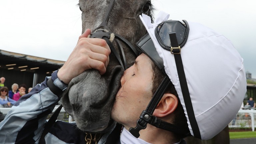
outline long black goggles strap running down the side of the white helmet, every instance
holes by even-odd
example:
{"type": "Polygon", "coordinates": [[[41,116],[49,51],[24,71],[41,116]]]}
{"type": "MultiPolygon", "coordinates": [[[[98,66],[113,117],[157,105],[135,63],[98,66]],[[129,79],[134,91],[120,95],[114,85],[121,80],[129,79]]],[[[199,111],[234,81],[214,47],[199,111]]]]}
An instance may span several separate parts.
{"type": "MultiPolygon", "coordinates": [[[[170,36],[172,47],[174,47],[174,48],[179,47],[176,33],[170,33],[169,36],[170,36]]],[[[201,134],[200,134],[200,131],[198,128],[198,124],[196,122],[191,98],[189,95],[189,90],[188,90],[187,80],[186,80],[186,76],[185,76],[185,72],[184,72],[184,68],[183,68],[183,64],[182,64],[181,54],[180,54],[180,52],[172,53],[172,54],[174,54],[174,59],[175,59],[177,72],[178,72],[178,76],[179,76],[181,91],[182,91],[183,99],[184,99],[186,110],[188,113],[188,119],[189,119],[191,128],[193,130],[194,137],[201,139],[201,134]]]]}

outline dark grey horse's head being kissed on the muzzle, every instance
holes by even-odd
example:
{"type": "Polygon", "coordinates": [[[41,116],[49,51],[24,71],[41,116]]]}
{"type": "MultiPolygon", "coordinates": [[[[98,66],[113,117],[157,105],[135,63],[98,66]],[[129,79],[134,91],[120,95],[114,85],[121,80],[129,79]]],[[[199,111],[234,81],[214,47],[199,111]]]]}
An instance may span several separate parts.
{"type": "MultiPolygon", "coordinates": [[[[150,15],[153,10],[151,0],[79,0],[79,7],[82,11],[82,33],[87,28],[96,29],[107,18],[107,29],[121,35],[133,46],[146,34],[139,15],[150,15]]],[[[117,44],[113,42],[113,45],[119,54],[117,44]]],[[[125,65],[130,67],[136,54],[125,44],[123,53],[125,58],[122,62],[126,59],[125,65]]],[[[110,115],[124,72],[119,63],[111,51],[110,62],[104,75],[94,69],[86,70],[69,83],[62,95],[62,104],[79,129],[86,132],[105,132],[113,128],[115,122],[111,120],[110,115]]]]}

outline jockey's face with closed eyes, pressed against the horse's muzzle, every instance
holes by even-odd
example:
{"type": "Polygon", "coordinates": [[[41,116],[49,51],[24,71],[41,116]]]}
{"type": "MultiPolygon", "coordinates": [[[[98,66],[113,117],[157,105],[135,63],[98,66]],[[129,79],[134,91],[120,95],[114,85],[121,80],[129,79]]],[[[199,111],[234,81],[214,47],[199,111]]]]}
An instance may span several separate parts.
{"type": "Polygon", "coordinates": [[[126,129],[135,127],[141,112],[152,98],[152,81],[151,60],[141,54],[121,78],[121,88],[111,113],[112,119],[123,124],[126,129]]]}

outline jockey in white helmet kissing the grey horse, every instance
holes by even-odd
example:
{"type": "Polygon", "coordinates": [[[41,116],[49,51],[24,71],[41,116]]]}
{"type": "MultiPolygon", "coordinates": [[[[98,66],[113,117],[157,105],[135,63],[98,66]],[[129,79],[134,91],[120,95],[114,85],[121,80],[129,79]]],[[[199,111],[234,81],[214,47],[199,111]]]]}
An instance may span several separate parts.
{"type": "MultiPolygon", "coordinates": [[[[148,33],[137,43],[141,55],[121,78],[111,118],[117,125],[98,144],[186,144],[186,136],[210,139],[235,117],[246,92],[243,59],[223,35],[198,23],[155,23],[140,16],[148,33]],[[121,135],[120,135],[121,132],[121,135]]],[[[62,68],[22,96],[0,123],[0,141],[39,143],[46,118],[72,78],[87,69],[104,74],[110,49],[102,39],[79,41],[62,68]]],[[[75,123],[56,121],[45,143],[86,143],[75,123]]]]}

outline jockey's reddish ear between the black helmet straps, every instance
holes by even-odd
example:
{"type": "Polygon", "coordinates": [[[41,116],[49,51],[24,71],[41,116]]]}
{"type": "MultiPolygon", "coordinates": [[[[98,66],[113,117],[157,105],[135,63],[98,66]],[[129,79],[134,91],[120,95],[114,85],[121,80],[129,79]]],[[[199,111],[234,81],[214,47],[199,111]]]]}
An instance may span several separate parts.
{"type": "Polygon", "coordinates": [[[156,117],[165,117],[174,112],[177,106],[177,97],[173,94],[166,93],[158,103],[153,115],[156,117]]]}

